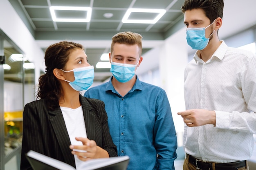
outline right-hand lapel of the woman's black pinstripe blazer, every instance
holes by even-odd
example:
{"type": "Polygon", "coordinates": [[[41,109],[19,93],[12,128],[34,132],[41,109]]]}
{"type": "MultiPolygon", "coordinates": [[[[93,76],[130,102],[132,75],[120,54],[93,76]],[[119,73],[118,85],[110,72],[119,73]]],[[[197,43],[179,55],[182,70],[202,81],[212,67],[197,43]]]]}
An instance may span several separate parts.
{"type": "Polygon", "coordinates": [[[85,128],[86,128],[86,133],[87,133],[87,138],[88,139],[94,139],[95,138],[95,115],[90,112],[92,109],[91,105],[89,102],[80,95],[80,102],[83,108],[83,117],[85,120],[85,128]]]}

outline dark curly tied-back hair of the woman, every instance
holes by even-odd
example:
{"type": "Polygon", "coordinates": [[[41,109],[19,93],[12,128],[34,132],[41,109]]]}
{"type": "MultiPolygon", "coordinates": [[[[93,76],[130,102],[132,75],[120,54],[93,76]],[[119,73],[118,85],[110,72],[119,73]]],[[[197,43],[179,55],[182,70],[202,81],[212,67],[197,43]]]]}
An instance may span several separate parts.
{"type": "Polygon", "coordinates": [[[54,76],[54,68],[64,69],[69,59],[69,54],[74,49],[83,49],[81,44],[61,41],[50,45],[45,51],[46,73],[39,77],[38,99],[45,99],[50,110],[58,107],[61,96],[61,83],[54,76]]]}

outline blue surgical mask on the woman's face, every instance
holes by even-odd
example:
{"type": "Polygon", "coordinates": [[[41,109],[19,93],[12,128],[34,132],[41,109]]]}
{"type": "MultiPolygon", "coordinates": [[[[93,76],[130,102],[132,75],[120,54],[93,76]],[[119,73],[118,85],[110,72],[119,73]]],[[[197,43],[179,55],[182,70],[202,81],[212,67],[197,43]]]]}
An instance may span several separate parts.
{"type": "MultiPolygon", "coordinates": [[[[62,69],[61,69],[62,70],[62,69]]],[[[64,71],[63,72],[74,72],[75,80],[73,82],[69,82],[69,85],[75,89],[76,91],[82,91],[87,90],[93,83],[94,78],[94,67],[87,66],[87,67],[81,67],[81,68],[74,68],[70,71],[64,71]]]]}

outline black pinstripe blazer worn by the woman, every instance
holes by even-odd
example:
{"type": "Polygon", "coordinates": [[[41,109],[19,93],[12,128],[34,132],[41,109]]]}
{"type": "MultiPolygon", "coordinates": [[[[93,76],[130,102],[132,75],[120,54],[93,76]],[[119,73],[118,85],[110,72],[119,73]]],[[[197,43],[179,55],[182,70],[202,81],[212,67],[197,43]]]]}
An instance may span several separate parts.
{"type": "MultiPolygon", "coordinates": [[[[105,149],[110,157],[117,156],[117,147],[108,129],[108,117],[104,102],[97,99],[79,97],[85,120],[88,139],[94,140],[105,149]]],[[[45,100],[36,100],[25,105],[23,111],[23,137],[20,169],[31,169],[25,153],[34,150],[75,167],[71,154],[69,135],[60,107],[50,111],[45,100]]]]}

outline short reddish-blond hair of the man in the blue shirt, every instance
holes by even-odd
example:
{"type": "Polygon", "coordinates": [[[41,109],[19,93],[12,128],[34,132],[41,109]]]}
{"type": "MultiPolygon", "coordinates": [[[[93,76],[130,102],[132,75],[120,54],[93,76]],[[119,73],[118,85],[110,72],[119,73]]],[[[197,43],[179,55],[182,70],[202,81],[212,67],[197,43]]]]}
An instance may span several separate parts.
{"type": "Polygon", "coordinates": [[[130,31],[128,32],[121,32],[117,33],[112,37],[112,43],[111,43],[111,53],[113,52],[113,46],[116,43],[119,44],[127,44],[127,45],[135,45],[137,44],[139,46],[139,57],[141,56],[142,52],[142,36],[138,33],[132,33],[130,31]]]}

